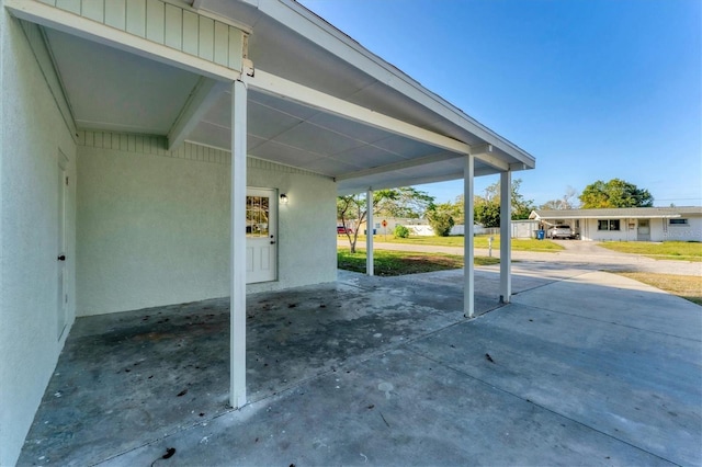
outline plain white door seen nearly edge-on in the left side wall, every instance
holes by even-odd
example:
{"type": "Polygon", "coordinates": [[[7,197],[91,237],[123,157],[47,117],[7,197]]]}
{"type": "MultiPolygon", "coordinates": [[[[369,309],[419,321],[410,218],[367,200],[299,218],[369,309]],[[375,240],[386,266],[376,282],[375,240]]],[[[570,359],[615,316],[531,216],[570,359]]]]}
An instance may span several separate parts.
{"type": "Polygon", "coordinates": [[[56,337],[60,339],[66,329],[66,312],[68,306],[68,295],[66,294],[66,191],[68,187],[68,178],[66,175],[67,158],[61,152],[58,153],[58,205],[57,221],[58,231],[56,235],[57,243],[57,293],[56,293],[56,337]]]}

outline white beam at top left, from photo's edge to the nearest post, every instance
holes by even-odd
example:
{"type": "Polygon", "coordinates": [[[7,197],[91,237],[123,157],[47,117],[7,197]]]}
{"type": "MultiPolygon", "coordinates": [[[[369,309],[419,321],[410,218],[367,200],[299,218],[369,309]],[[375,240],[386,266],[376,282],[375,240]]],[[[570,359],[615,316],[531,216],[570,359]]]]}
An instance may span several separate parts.
{"type": "Polygon", "coordinates": [[[38,1],[4,0],[4,5],[13,16],[21,20],[128,52],[217,81],[227,81],[230,83],[241,78],[241,72],[237,70],[105,26],[104,24],[38,1]]]}

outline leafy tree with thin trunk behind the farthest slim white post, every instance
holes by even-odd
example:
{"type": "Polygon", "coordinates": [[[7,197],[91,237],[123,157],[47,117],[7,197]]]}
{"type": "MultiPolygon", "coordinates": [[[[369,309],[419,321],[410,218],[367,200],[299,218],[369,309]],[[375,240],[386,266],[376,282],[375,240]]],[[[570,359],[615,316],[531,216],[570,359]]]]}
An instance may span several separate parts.
{"type": "MultiPolygon", "coordinates": [[[[433,196],[414,187],[378,190],[373,192],[373,214],[417,218],[433,207],[433,196]]],[[[337,218],[343,226],[352,253],[355,253],[359,226],[365,221],[366,215],[367,203],[364,194],[337,197],[337,218]],[[355,225],[353,226],[353,224],[355,225]]],[[[369,226],[366,230],[372,232],[372,226],[369,226]]]]}

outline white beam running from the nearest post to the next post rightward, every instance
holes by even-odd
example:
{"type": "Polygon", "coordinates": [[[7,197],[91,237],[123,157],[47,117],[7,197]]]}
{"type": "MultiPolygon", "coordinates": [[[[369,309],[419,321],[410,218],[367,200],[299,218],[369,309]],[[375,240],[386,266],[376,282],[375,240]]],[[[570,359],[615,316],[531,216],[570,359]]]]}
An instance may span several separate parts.
{"type": "Polygon", "coordinates": [[[246,83],[259,91],[296,101],[351,121],[373,126],[440,149],[467,155],[471,146],[448,136],[430,132],[400,119],[373,112],[333,95],[307,88],[275,75],[257,69],[252,77],[244,77],[246,83]]]}

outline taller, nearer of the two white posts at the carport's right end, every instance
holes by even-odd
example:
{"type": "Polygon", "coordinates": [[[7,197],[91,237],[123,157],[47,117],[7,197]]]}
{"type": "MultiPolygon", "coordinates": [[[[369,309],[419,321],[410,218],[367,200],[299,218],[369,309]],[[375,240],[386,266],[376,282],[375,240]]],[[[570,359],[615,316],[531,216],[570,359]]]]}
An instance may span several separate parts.
{"type": "Polygon", "coordinates": [[[463,238],[463,316],[474,318],[475,316],[475,269],[473,251],[473,186],[475,176],[475,163],[473,155],[465,157],[465,167],[463,169],[463,212],[464,212],[464,238],[463,238]]]}

